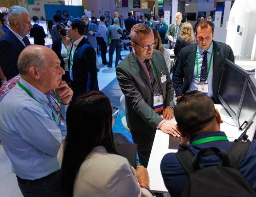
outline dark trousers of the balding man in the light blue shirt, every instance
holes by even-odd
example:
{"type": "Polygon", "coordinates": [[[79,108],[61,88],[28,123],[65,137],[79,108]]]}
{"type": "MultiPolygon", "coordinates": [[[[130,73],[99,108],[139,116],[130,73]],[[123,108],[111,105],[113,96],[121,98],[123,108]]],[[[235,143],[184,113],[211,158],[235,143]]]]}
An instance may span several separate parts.
{"type": "Polygon", "coordinates": [[[17,176],[17,181],[24,197],[63,197],[60,170],[34,181],[17,176]]]}

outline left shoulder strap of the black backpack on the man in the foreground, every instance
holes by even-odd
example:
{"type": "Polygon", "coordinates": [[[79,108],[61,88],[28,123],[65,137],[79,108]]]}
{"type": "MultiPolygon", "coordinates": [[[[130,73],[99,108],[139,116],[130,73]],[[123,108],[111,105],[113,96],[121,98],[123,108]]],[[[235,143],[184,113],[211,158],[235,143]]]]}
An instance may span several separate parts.
{"type": "Polygon", "coordinates": [[[188,174],[193,172],[193,154],[190,152],[190,150],[183,150],[175,153],[176,158],[181,163],[182,167],[188,172],[188,174]]]}

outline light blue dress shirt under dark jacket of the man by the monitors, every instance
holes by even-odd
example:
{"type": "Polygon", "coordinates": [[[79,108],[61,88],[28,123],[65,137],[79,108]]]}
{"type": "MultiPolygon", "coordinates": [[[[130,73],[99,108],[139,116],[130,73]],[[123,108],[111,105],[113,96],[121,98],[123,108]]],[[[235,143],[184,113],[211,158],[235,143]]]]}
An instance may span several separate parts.
{"type": "MultiPolygon", "coordinates": [[[[207,61],[208,61],[208,68],[209,68],[209,64],[210,64],[210,56],[213,53],[212,50],[212,46],[213,43],[211,42],[209,49],[207,49],[206,51],[208,51],[207,53],[207,61]]],[[[204,58],[204,51],[203,49],[201,49],[199,46],[197,48],[197,55],[198,55],[198,76],[199,76],[199,81],[200,81],[200,76],[201,76],[201,69],[202,69],[202,62],[203,62],[203,58],[204,58]]],[[[209,75],[207,78],[207,82],[208,82],[208,95],[210,98],[213,97],[213,91],[212,91],[212,75],[213,75],[213,71],[212,71],[212,67],[213,67],[213,55],[212,55],[212,60],[211,60],[211,64],[210,64],[210,71],[209,71],[209,75]]],[[[193,91],[193,90],[198,90],[197,88],[197,83],[199,82],[196,79],[196,58],[195,58],[195,67],[194,67],[194,73],[193,73],[193,79],[191,82],[191,85],[189,87],[189,89],[187,90],[187,92],[193,91]]]]}

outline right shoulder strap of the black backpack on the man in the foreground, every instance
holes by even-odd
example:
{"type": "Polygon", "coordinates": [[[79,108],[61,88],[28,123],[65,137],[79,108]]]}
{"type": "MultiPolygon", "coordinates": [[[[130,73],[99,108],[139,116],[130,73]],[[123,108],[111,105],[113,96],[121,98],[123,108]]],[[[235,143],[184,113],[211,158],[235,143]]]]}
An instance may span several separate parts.
{"type": "Polygon", "coordinates": [[[245,158],[245,154],[250,148],[250,142],[233,142],[228,150],[230,165],[238,169],[239,165],[245,158]]]}

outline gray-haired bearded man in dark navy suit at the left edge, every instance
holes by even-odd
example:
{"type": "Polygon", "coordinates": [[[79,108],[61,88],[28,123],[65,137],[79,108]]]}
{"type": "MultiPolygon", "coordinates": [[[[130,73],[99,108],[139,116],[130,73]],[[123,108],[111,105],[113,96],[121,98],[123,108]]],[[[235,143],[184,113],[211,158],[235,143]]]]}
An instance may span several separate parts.
{"type": "Polygon", "coordinates": [[[0,38],[0,65],[7,79],[19,74],[17,60],[22,50],[30,44],[28,33],[33,28],[28,10],[13,5],[8,12],[10,28],[0,38]]]}

